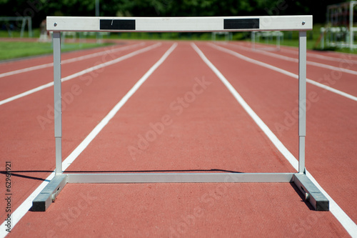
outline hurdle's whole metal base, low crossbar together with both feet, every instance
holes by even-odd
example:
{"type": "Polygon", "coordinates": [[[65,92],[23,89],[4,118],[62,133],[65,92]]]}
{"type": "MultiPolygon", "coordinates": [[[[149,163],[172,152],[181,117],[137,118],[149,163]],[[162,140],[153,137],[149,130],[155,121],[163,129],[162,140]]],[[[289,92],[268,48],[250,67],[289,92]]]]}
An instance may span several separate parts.
{"type": "Polygon", "coordinates": [[[294,173],[121,173],[121,174],[59,174],[34,199],[32,211],[45,212],[69,184],[144,184],[144,183],[276,183],[290,182],[308,195],[318,211],[328,211],[328,200],[305,174],[294,173]],[[326,205],[327,202],[327,205],[326,205]]]}

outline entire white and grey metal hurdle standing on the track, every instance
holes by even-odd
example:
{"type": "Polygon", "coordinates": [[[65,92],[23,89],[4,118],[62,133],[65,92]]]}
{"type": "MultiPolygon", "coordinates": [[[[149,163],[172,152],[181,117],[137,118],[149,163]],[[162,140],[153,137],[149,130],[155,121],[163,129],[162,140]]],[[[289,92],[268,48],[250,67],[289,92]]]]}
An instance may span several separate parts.
{"type": "Polygon", "coordinates": [[[318,211],[328,211],[328,199],[306,175],[306,31],[312,16],[219,16],[219,17],[66,17],[47,16],[54,46],[54,179],[34,199],[32,211],[46,211],[67,183],[294,183],[318,211]],[[62,171],[61,31],[113,32],[222,32],[299,31],[298,64],[298,172],[296,173],[64,173],[62,171]]]}

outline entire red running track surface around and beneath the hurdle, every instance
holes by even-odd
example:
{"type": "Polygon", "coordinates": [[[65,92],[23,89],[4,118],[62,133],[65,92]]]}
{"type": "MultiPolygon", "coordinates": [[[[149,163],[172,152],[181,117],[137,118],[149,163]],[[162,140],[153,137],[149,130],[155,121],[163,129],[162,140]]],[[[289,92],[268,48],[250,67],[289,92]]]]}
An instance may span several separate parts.
{"type": "MultiPolygon", "coordinates": [[[[298,49],[259,47],[120,41],[62,54],[65,172],[296,172],[198,54],[297,159],[298,49]]],[[[0,64],[3,188],[11,164],[11,232],[1,224],[1,237],[357,237],[357,56],[308,51],[307,60],[306,169],[331,212],[289,183],[67,184],[46,212],[31,212],[55,169],[53,59],[0,64]]]]}

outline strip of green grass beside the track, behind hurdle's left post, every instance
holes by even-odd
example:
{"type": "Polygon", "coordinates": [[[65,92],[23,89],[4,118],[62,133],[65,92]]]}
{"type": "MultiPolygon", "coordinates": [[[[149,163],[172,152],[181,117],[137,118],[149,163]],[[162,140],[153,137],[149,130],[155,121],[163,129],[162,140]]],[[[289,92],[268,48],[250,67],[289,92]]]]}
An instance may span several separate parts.
{"type": "MultiPolygon", "coordinates": [[[[89,49],[109,44],[95,43],[66,43],[62,46],[62,51],[74,51],[78,49],[89,49]]],[[[16,59],[27,56],[36,56],[41,54],[51,54],[52,44],[42,42],[21,42],[21,41],[0,41],[0,60],[16,59]]]]}

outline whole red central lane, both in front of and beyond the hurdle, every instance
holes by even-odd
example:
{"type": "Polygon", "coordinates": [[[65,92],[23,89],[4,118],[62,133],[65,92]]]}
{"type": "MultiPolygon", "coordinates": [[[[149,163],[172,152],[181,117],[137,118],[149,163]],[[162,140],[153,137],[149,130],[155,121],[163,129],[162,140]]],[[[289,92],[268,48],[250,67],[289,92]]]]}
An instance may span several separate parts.
{"type": "MultiPolygon", "coordinates": [[[[211,169],[293,172],[183,42],[68,170],[211,169]],[[141,138],[147,143],[139,144],[141,138]]],[[[314,212],[296,190],[288,183],[67,184],[47,212],[28,212],[9,237],[347,235],[330,212],[314,212]]]]}

